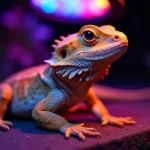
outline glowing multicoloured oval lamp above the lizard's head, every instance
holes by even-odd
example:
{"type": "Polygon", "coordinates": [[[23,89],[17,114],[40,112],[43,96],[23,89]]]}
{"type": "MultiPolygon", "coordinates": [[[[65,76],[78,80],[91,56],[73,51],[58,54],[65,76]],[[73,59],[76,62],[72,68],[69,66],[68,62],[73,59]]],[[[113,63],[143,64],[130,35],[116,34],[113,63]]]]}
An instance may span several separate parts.
{"type": "Polygon", "coordinates": [[[73,23],[104,19],[111,10],[109,0],[31,0],[31,6],[45,17],[73,23]]]}

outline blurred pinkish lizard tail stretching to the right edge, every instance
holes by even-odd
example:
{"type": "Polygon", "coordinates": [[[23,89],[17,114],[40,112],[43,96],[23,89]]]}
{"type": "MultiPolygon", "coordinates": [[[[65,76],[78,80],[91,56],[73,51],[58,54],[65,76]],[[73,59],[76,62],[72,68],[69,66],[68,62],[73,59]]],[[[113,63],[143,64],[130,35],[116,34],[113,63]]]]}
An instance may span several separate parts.
{"type": "Polygon", "coordinates": [[[94,85],[93,90],[101,99],[116,101],[143,101],[150,100],[150,88],[119,89],[102,85],[94,85]]]}

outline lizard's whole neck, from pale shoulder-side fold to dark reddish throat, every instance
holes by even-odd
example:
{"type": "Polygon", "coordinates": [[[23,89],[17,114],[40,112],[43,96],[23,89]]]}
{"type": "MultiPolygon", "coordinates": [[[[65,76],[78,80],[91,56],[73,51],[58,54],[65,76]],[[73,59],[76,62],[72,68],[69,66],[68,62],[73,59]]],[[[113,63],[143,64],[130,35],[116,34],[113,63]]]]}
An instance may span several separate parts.
{"type": "Polygon", "coordinates": [[[104,79],[104,75],[108,74],[108,67],[100,72],[82,72],[69,79],[67,76],[62,77],[57,74],[57,71],[48,65],[43,72],[42,79],[51,89],[59,87],[67,93],[67,96],[82,98],[87,95],[93,83],[104,79]]]}

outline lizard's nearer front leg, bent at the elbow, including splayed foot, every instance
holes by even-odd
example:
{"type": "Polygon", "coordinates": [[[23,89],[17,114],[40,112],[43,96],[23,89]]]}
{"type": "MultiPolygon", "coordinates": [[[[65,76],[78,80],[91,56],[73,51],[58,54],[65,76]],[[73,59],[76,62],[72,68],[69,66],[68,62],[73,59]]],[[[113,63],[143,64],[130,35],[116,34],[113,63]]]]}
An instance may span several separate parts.
{"type": "Polygon", "coordinates": [[[53,90],[45,99],[39,102],[32,112],[32,117],[45,129],[59,131],[65,134],[66,138],[76,135],[85,140],[85,135],[100,136],[100,133],[93,128],[83,127],[84,124],[71,124],[63,117],[54,113],[65,105],[64,93],[60,90],[53,90]]]}

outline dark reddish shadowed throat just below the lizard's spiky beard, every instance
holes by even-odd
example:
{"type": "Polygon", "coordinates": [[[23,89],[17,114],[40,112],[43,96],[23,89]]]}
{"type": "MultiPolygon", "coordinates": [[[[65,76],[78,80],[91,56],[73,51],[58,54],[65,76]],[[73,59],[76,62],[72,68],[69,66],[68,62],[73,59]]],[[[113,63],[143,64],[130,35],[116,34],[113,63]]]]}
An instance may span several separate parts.
{"type": "Polygon", "coordinates": [[[68,77],[57,74],[55,69],[52,71],[55,82],[65,89],[68,94],[74,95],[74,97],[85,96],[93,83],[100,79],[104,79],[104,75],[106,74],[108,74],[108,68],[100,72],[83,72],[83,74],[76,75],[74,78],[69,79],[68,77]]]}

